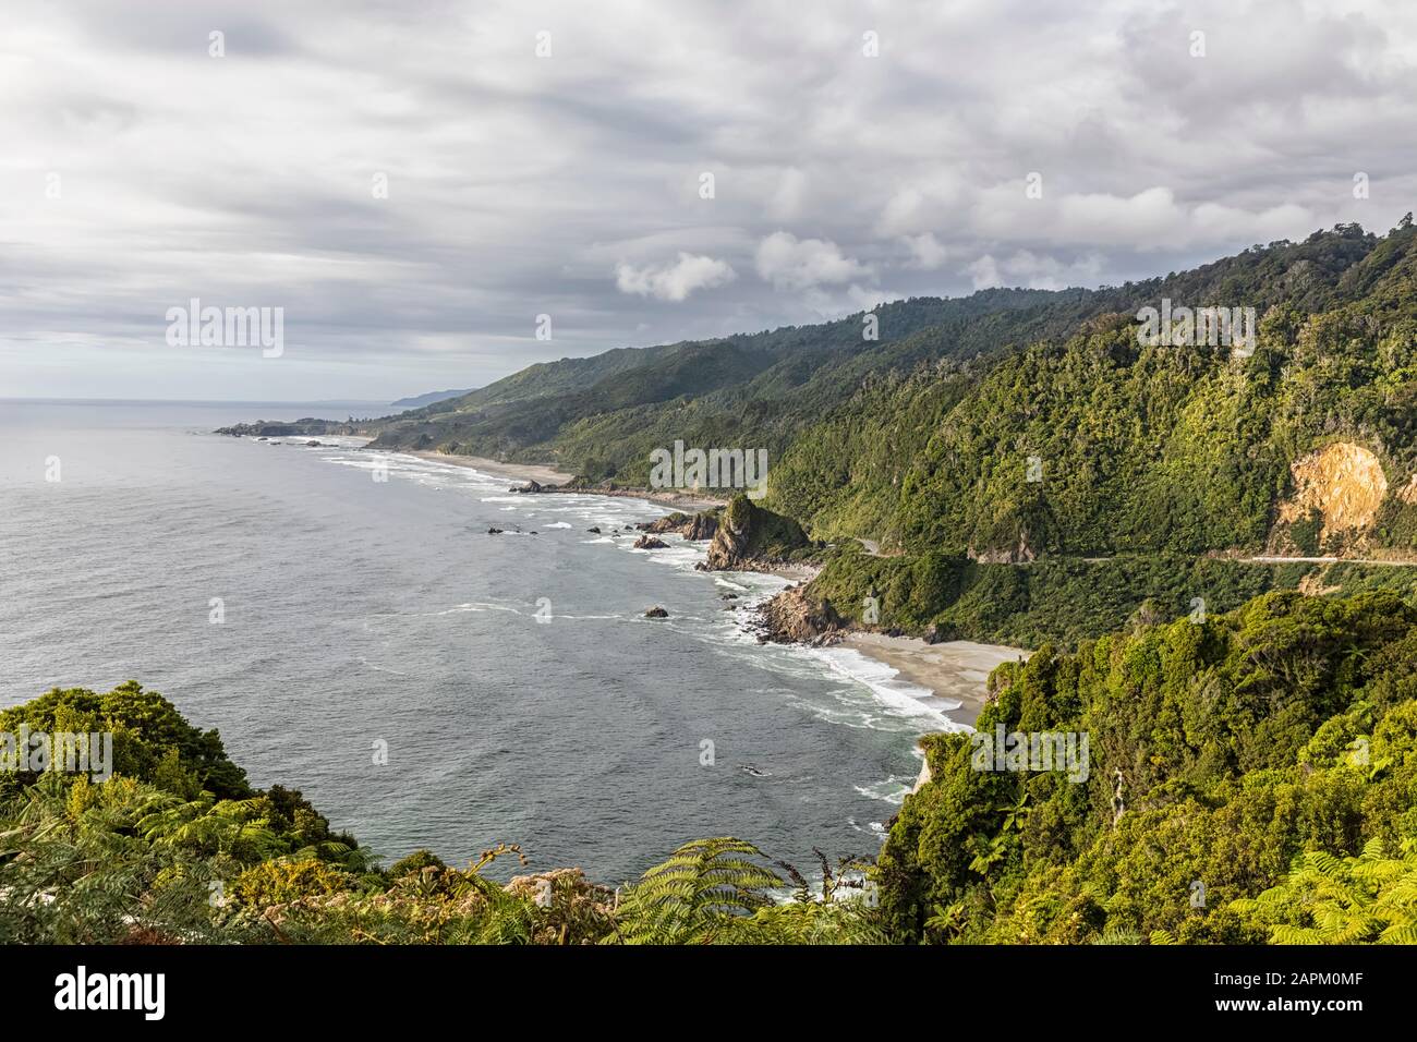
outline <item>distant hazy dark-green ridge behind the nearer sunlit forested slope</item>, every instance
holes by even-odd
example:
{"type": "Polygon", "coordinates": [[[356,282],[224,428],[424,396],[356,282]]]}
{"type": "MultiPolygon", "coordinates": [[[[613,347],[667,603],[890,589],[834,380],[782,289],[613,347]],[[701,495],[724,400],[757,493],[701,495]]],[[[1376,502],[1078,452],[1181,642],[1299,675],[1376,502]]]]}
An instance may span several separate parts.
{"type": "Polygon", "coordinates": [[[939,335],[917,339],[904,354],[890,350],[897,342],[920,330],[972,329],[975,318],[1027,312],[1056,296],[989,291],[959,301],[898,301],[877,309],[879,339],[866,339],[863,316],[854,315],[818,326],[544,363],[366,430],[377,434],[377,448],[555,461],[592,479],[643,483],[656,445],[682,438],[704,447],[779,448],[808,417],[843,401],[859,373],[931,353],[999,346],[983,329],[959,343],[939,335]],[[866,360],[852,366],[857,357],[866,360]]]}

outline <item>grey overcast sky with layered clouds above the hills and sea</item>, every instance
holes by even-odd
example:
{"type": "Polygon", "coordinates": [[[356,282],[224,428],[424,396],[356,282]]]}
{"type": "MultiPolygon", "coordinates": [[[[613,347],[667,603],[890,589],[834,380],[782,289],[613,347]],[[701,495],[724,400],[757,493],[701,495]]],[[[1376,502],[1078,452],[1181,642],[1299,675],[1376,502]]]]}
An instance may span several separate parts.
{"type": "Polygon", "coordinates": [[[1414,69],[1400,0],[6,0],[0,397],[387,401],[1386,231],[1414,69]],[[191,298],[283,354],[170,346],[191,298]]]}

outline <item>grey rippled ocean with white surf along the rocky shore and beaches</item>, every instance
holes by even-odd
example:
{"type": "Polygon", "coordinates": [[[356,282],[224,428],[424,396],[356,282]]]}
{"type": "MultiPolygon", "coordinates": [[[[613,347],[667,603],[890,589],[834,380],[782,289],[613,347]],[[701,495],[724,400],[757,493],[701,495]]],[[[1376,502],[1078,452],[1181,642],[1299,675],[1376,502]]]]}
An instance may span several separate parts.
{"type": "Polygon", "coordinates": [[[0,705],[136,679],[387,861],[516,842],[609,883],[713,835],[805,872],[813,846],[874,856],[917,737],[955,727],[888,668],[724,610],[784,580],[612,533],[665,508],[211,434],[299,415],[346,411],[0,401],[0,705]]]}

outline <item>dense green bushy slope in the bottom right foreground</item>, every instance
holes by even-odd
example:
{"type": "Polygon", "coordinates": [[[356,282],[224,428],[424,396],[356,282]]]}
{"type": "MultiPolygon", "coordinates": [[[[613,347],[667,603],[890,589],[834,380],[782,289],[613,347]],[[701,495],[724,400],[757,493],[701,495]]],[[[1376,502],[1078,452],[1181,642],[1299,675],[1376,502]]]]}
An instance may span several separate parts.
{"type": "Polygon", "coordinates": [[[981,734],[1088,737],[1083,780],[930,781],[880,856],[896,934],[990,943],[1417,941],[1417,610],[1271,594],[995,671],[981,734]]]}

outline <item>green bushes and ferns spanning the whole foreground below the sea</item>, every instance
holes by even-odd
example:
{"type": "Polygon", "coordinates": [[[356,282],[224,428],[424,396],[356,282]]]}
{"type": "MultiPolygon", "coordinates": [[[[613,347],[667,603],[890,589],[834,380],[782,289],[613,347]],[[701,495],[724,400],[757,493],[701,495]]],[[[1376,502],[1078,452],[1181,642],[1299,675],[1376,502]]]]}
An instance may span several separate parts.
{"type": "Polygon", "coordinates": [[[968,736],[931,736],[873,865],[822,858],[809,883],[701,839],[619,889],[493,879],[516,846],[381,868],[160,695],[50,692],[0,729],[112,730],[115,775],[0,775],[0,941],[1417,941],[1417,608],[1397,595],[1270,593],[1044,646],[990,692],[982,733],[1085,733],[1087,778],[976,770],[968,736]]]}

